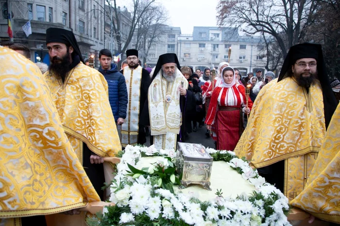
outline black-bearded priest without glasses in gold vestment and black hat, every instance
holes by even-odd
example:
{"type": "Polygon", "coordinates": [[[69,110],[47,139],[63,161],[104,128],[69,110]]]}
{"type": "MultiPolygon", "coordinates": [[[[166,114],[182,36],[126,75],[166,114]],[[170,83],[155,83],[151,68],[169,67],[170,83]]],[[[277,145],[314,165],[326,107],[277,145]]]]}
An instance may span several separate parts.
{"type": "Polygon", "coordinates": [[[49,28],[46,43],[51,65],[45,79],[68,139],[103,199],[103,159],[121,151],[108,100],[107,82],[83,62],[72,31],[49,28]]]}

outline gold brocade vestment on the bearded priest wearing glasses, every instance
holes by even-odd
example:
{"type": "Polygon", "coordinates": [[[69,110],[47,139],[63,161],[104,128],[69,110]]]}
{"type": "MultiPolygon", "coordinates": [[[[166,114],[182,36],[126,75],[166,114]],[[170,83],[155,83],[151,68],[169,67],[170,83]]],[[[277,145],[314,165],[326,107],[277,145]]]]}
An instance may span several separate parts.
{"type": "Polygon", "coordinates": [[[308,93],[291,77],[273,82],[256,97],[235,153],[256,168],[285,160],[284,194],[292,200],[304,189],[325,135],[323,94],[318,80],[308,93]]]}

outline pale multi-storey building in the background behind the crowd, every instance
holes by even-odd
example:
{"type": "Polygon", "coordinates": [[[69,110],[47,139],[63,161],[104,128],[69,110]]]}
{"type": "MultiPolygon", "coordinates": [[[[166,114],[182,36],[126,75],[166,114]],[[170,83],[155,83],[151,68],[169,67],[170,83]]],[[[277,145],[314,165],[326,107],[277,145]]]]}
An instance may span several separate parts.
{"type": "Polygon", "coordinates": [[[181,66],[191,66],[194,70],[217,68],[220,62],[225,61],[238,68],[242,76],[249,72],[255,74],[256,70],[264,74],[264,47],[263,39],[240,36],[235,28],[194,27],[192,34],[181,34],[180,28],[168,27],[163,42],[150,49],[147,65],[155,66],[159,55],[173,52],[177,54],[181,66]]]}

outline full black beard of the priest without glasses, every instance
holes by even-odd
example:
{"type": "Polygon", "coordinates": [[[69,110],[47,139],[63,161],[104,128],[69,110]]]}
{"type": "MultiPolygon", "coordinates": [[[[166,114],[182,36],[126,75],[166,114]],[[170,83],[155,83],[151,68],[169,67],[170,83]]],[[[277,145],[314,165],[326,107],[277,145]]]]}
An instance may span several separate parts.
{"type": "Polygon", "coordinates": [[[71,57],[69,52],[65,54],[62,58],[58,56],[50,57],[51,64],[49,66],[50,73],[55,75],[57,78],[65,80],[66,75],[70,71],[71,57]],[[61,61],[58,61],[61,60],[61,61]]]}

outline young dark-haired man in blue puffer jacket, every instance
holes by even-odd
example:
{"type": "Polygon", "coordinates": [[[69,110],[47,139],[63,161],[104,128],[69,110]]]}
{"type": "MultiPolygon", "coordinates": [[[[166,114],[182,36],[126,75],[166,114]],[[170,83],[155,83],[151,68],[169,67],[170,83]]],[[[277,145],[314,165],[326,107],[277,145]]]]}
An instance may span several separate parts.
{"type": "Polygon", "coordinates": [[[98,71],[104,75],[108,89],[109,101],[113,116],[115,117],[116,125],[124,123],[126,118],[126,109],[128,96],[124,76],[119,73],[116,64],[112,63],[112,54],[108,49],[102,49],[99,52],[99,60],[101,66],[98,71]]]}

